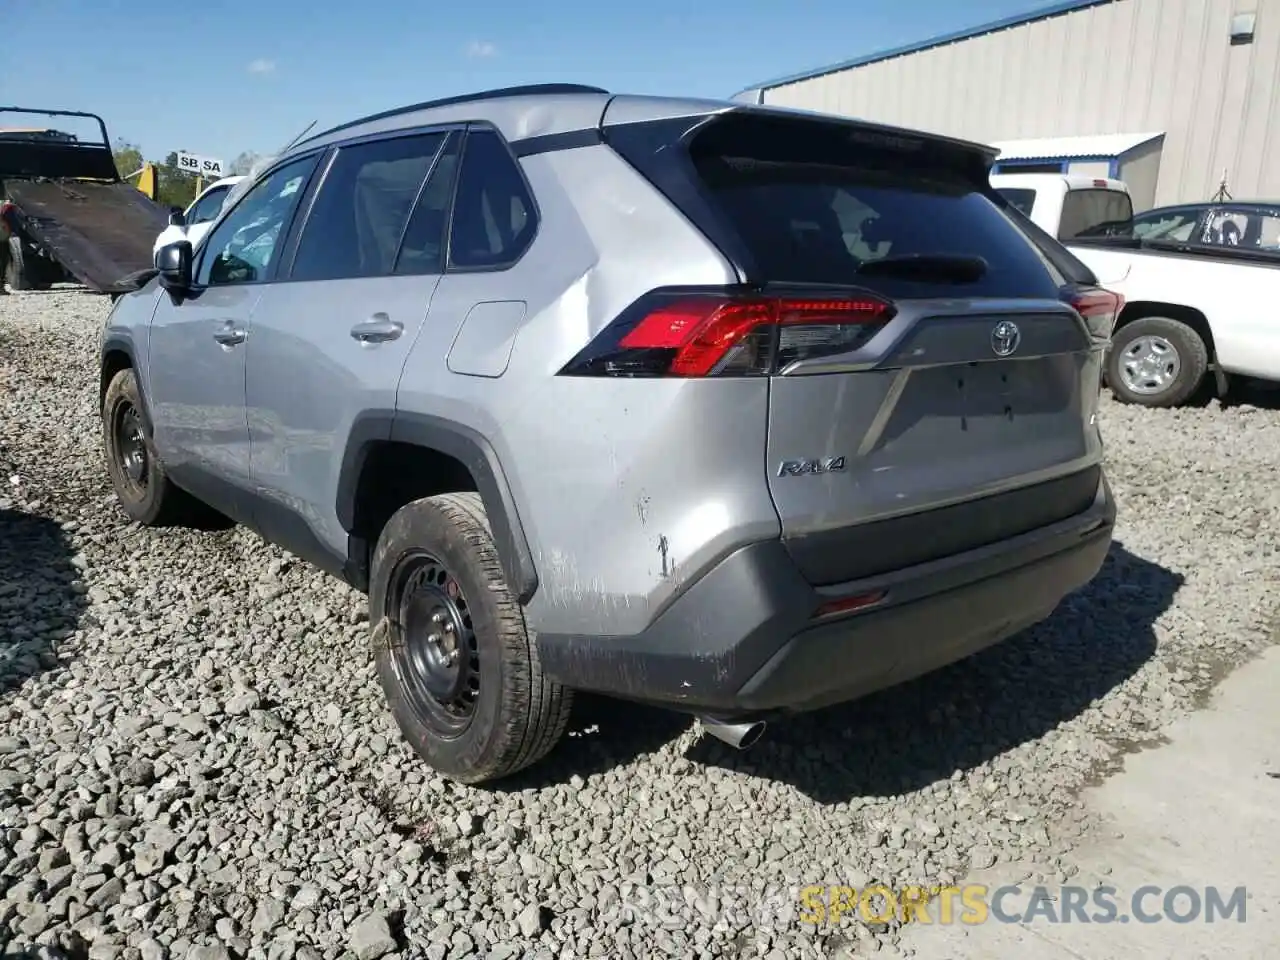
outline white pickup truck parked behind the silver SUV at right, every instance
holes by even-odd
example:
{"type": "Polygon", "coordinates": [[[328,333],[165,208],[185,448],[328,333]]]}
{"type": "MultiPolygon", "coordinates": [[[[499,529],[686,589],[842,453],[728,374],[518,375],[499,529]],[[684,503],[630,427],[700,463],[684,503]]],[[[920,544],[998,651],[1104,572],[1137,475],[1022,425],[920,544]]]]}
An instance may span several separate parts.
{"type": "Polygon", "coordinates": [[[1280,204],[1202,202],[1137,216],[1119,180],[995,174],[992,186],[1125,306],[1106,380],[1124,402],[1187,403],[1212,374],[1280,381],[1280,204]]]}

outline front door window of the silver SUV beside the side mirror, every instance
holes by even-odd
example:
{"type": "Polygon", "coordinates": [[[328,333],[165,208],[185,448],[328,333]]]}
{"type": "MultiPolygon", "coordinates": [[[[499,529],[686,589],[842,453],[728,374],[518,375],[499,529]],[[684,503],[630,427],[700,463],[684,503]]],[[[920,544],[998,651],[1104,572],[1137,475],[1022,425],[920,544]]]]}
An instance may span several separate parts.
{"type": "Polygon", "coordinates": [[[316,155],[294,160],[250,188],[210,233],[197,283],[214,287],[266,278],[316,160],[316,155]]]}

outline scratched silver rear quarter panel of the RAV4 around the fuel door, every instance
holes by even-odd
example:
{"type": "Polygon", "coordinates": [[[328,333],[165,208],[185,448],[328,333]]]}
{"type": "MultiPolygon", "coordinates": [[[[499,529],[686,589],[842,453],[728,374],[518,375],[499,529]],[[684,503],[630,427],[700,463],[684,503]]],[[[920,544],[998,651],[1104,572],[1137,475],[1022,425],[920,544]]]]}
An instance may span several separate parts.
{"type": "Polygon", "coordinates": [[[644,292],[735,276],[608,147],[521,166],[536,241],[509,270],[442,280],[397,402],[494,445],[538,567],[535,630],[634,634],[718,559],[778,536],[764,471],[769,384],[556,376],[644,292]],[[451,371],[467,312],[494,300],[527,303],[506,371],[451,371]]]}

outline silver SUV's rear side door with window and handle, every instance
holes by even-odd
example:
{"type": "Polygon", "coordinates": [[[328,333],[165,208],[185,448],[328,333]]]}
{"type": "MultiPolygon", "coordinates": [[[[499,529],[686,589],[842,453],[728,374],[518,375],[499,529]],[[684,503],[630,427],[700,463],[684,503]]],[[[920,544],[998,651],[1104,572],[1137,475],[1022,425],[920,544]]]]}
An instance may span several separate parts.
{"type": "Polygon", "coordinates": [[[342,146],[285,251],[288,280],[253,310],[246,403],[250,468],[269,539],[346,556],[338,476],[356,417],[396,388],[440,280],[460,133],[342,146]]]}

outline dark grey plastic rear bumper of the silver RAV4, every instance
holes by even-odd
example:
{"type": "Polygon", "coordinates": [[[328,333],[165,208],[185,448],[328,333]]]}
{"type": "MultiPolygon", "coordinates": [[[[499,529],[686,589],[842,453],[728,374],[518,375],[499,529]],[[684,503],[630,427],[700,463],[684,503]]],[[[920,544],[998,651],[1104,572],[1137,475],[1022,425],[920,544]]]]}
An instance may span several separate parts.
{"type": "Polygon", "coordinates": [[[1103,476],[1074,517],[891,573],[814,588],[781,540],[745,547],[634,636],[538,635],[547,675],[579,690],[722,719],[827,707],[893,686],[1048,617],[1105,561],[1115,502],[1103,476]],[[814,622],[822,604],[886,591],[814,622]]]}

